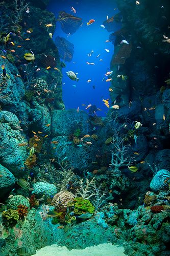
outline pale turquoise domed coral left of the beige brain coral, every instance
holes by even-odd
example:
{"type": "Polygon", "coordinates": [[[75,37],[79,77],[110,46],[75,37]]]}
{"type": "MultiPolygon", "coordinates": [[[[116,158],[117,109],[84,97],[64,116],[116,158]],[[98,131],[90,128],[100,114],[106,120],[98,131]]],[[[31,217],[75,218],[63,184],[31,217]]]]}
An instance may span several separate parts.
{"type": "Polygon", "coordinates": [[[35,194],[36,198],[42,198],[46,200],[49,197],[53,197],[57,193],[56,186],[45,182],[36,182],[33,185],[32,194],[35,194]]]}

